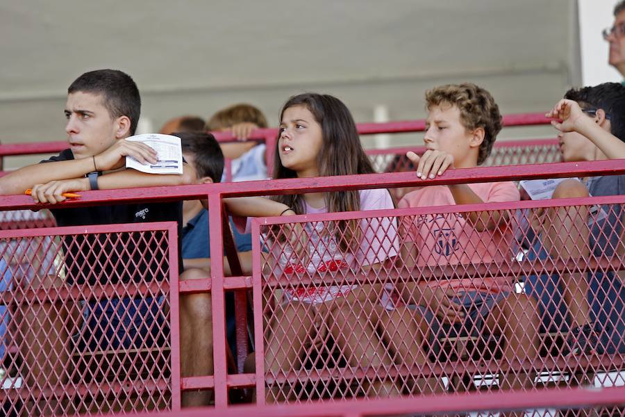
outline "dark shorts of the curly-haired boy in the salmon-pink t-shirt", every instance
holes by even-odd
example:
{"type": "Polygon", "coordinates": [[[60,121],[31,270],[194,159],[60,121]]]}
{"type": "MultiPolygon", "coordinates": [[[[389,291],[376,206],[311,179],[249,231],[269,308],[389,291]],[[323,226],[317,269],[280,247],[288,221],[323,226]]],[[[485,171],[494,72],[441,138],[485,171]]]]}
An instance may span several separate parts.
{"type": "Polygon", "coordinates": [[[437,316],[424,306],[408,306],[409,309],[419,311],[430,325],[428,343],[432,353],[438,355],[441,350],[441,338],[474,336],[483,338],[485,320],[492,307],[500,300],[508,296],[508,293],[481,293],[478,291],[461,291],[453,297],[452,301],[460,304],[465,309],[465,320],[452,324],[441,322],[437,316]]]}

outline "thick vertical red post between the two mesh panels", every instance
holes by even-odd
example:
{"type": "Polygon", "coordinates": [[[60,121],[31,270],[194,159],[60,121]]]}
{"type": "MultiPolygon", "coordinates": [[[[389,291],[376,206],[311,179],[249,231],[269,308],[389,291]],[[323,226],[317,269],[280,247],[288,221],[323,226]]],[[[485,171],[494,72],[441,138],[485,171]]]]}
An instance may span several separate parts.
{"type": "Polygon", "coordinates": [[[210,228],[210,279],[213,300],[213,360],[215,363],[215,407],[228,405],[226,360],[226,306],[224,300],[224,240],[222,239],[222,195],[208,195],[210,228]]]}

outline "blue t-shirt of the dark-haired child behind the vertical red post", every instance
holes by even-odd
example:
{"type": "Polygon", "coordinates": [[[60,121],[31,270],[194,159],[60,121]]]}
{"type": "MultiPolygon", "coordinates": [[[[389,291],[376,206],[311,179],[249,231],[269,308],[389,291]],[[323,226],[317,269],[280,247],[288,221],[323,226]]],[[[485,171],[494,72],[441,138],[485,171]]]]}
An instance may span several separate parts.
{"type": "MultiPolygon", "coordinates": [[[[251,250],[251,234],[240,234],[232,224],[233,237],[238,252],[251,250]]],[[[183,227],[182,233],[182,257],[183,259],[210,258],[210,246],[208,243],[208,210],[200,211],[194,218],[183,227]]]]}

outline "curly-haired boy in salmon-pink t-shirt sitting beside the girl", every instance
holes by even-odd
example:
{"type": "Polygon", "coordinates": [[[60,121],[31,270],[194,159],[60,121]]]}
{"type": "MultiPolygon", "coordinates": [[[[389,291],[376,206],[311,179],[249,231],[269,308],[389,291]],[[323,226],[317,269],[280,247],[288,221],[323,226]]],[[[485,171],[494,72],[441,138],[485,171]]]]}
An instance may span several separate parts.
{"type": "MultiPolygon", "coordinates": [[[[407,156],[417,166],[417,175],[433,179],[448,169],[476,167],[490,154],[501,130],[499,107],[489,92],[472,83],[442,85],[426,92],[426,152],[419,158],[407,156]]],[[[514,183],[492,182],[425,186],[408,193],[399,208],[448,206],[484,202],[513,202],[519,199],[514,183]]],[[[512,259],[512,220],[506,211],[480,211],[458,215],[406,216],[401,261],[409,268],[427,269],[456,265],[462,270],[471,264],[512,259]]],[[[513,291],[510,277],[453,278],[399,285],[404,302],[390,313],[387,339],[399,360],[428,368],[426,346],[435,346],[441,336],[479,335],[503,337],[503,359],[508,363],[533,359],[537,354],[538,318],[531,297],[513,291]],[[399,332],[399,333],[393,333],[399,332]],[[410,340],[403,343],[399,340],[410,340]]],[[[431,382],[430,382],[431,383],[431,382]]],[[[503,388],[531,386],[529,375],[500,374],[503,388]]],[[[423,390],[437,390],[432,384],[423,390]]]]}

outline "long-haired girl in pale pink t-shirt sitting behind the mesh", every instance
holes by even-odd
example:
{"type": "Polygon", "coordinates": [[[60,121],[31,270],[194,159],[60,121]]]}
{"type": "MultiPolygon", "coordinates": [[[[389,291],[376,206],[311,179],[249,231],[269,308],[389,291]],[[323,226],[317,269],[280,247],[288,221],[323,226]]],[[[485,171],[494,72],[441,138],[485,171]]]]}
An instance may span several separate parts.
{"type": "MultiPolygon", "coordinates": [[[[276,146],[276,179],[374,172],[351,113],[330,95],[291,97],[281,112],[276,146]]],[[[226,205],[232,213],[250,217],[394,208],[385,189],[226,199],[226,205]]],[[[301,368],[307,357],[310,360],[311,350],[317,346],[322,352],[330,337],[349,366],[390,366],[392,361],[376,335],[376,324],[364,307],[379,304],[381,288],[349,285],[342,279],[331,286],[301,286],[297,278],[333,270],[358,275],[374,268],[397,254],[394,221],[342,220],[329,226],[309,222],[295,224],[290,232],[269,229],[268,234],[276,237],[265,239],[270,275],[290,279],[283,288],[281,306],[268,318],[265,371],[276,375],[301,368]]],[[[365,395],[398,393],[390,381],[367,381],[360,386],[365,395]]],[[[267,392],[267,402],[288,400],[292,394],[286,386],[273,387],[267,392]]]]}

